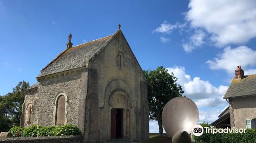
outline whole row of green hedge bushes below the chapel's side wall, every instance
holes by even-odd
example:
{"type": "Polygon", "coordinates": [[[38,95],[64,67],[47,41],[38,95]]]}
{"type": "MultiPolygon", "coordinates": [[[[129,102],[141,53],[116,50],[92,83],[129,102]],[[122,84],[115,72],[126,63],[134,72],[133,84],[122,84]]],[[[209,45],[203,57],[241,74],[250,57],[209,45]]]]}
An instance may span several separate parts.
{"type": "Polygon", "coordinates": [[[60,127],[32,125],[30,127],[13,127],[9,130],[13,137],[78,135],[77,126],[67,124],[60,127]]]}

